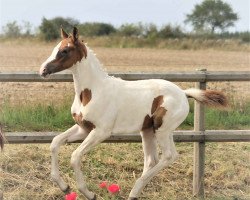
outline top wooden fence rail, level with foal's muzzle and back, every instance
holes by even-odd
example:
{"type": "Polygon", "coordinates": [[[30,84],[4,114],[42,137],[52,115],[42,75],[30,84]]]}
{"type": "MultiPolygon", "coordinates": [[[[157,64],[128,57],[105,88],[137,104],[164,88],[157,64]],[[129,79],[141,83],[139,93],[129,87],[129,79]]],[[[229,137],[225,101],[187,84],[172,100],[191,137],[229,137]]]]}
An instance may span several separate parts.
{"type": "MultiPolygon", "coordinates": [[[[173,82],[211,82],[211,81],[250,81],[250,71],[231,72],[170,72],[163,73],[110,73],[109,75],[124,80],[164,79],[173,82]]],[[[37,72],[0,72],[0,82],[72,82],[71,74],[53,74],[49,79],[44,79],[37,72]]]]}

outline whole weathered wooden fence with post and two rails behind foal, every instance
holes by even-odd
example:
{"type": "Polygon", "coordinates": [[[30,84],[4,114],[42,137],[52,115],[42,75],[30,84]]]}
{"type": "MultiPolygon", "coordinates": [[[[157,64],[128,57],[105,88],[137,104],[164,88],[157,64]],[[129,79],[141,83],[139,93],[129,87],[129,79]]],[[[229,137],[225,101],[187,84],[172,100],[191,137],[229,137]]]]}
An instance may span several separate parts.
{"type": "MultiPolygon", "coordinates": [[[[124,80],[165,79],[173,82],[195,82],[196,88],[206,89],[207,82],[250,81],[250,71],[174,73],[112,73],[124,80]]],[[[42,79],[37,73],[1,73],[0,82],[72,82],[71,74],[54,74],[42,79]]],[[[205,142],[249,142],[250,130],[205,130],[204,106],[195,102],[194,131],[175,131],[176,142],[194,142],[193,194],[204,197],[205,142]]],[[[56,132],[8,132],[8,143],[50,143],[56,132]]],[[[105,142],[141,142],[139,134],[113,135],[105,142]]]]}

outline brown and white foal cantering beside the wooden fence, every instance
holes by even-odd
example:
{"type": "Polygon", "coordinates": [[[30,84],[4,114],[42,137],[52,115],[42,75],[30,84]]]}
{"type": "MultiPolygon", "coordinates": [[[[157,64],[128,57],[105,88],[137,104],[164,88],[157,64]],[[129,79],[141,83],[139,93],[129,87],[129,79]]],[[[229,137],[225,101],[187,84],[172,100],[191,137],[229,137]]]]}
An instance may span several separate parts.
{"type": "Polygon", "coordinates": [[[144,151],[144,169],[129,194],[138,199],[145,185],[161,169],[177,158],[173,131],[189,112],[188,97],[215,107],[226,106],[225,96],[216,91],[182,90],[165,80],[124,81],[110,77],[95,54],[78,39],[77,28],[68,35],[61,29],[62,41],[42,64],[40,75],[70,69],[75,99],[71,107],[76,125],[56,136],[51,143],[51,175],[66,194],[70,187],[59,175],[58,151],[66,142],[83,140],[72,153],[71,165],[77,186],[87,199],[96,199],[81,172],[81,157],[112,134],[140,132],[144,151]],[[162,155],[158,159],[157,144],[162,155]]]}

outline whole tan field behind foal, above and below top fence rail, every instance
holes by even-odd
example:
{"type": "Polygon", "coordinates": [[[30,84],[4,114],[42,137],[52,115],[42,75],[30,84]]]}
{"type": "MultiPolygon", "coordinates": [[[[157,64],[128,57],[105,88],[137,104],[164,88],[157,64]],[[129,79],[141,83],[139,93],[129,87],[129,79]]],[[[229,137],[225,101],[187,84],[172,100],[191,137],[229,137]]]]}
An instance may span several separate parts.
{"type": "MultiPolygon", "coordinates": [[[[0,43],[0,72],[38,71],[50,55],[53,44],[0,43]]],[[[247,71],[250,70],[250,52],[218,50],[168,50],[93,48],[108,71],[169,72],[247,71]]],[[[185,84],[180,84],[181,86],[185,84]]],[[[188,85],[190,87],[190,84],[188,85]]],[[[192,85],[191,85],[192,86],[192,85]]],[[[249,83],[210,84],[210,87],[233,90],[239,94],[249,91],[249,83]]],[[[63,101],[73,95],[72,83],[0,83],[0,104],[63,101]]],[[[249,94],[249,93],[248,93],[249,94]]],[[[238,95],[238,94],[237,94],[238,95]]]]}

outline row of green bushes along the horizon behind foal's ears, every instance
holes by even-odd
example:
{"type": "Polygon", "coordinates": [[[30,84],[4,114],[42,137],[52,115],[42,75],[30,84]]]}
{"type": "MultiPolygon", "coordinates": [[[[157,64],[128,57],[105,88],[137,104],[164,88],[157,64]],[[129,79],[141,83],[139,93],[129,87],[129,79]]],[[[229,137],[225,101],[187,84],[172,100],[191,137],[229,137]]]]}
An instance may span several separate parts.
{"type": "Polygon", "coordinates": [[[42,19],[41,25],[37,30],[32,30],[32,25],[29,22],[24,22],[23,25],[16,21],[7,23],[3,27],[2,37],[18,38],[18,37],[39,37],[45,41],[53,41],[60,38],[60,27],[63,27],[67,32],[71,32],[73,26],[77,26],[80,35],[85,37],[98,36],[120,36],[120,37],[135,37],[145,39],[181,39],[181,38],[236,38],[243,42],[250,42],[250,32],[192,32],[188,33],[181,26],[167,24],[158,28],[153,23],[126,23],[116,28],[109,23],[101,22],[86,22],[80,23],[73,18],[55,17],[53,19],[42,19]]]}

